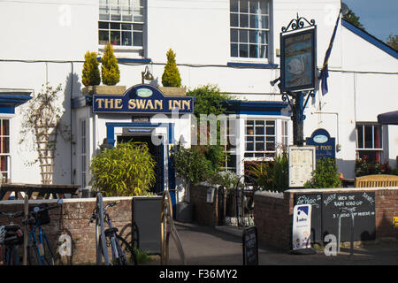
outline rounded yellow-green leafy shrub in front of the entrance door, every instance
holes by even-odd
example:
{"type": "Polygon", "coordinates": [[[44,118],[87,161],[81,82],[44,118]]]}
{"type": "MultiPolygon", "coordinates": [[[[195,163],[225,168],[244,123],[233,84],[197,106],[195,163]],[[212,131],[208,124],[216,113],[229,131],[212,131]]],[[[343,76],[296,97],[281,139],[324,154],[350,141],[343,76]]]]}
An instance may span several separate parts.
{"type": "Polygon", "coordinates": [[[93,188],[106,196],[146,195],[155,183],[155,161],[143,143],[119,143],[91,161],[93,188]]]}

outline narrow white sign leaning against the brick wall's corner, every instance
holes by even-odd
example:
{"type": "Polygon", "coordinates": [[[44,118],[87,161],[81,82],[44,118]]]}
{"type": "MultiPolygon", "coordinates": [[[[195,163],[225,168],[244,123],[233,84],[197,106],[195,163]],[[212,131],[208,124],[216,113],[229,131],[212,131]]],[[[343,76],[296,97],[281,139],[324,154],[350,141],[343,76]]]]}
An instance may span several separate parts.
{"type": "Polygon", "coordinates": [[[307,249],[311,247],[311,205],[295,205],[293,209],[292,247],[307,249]]]}

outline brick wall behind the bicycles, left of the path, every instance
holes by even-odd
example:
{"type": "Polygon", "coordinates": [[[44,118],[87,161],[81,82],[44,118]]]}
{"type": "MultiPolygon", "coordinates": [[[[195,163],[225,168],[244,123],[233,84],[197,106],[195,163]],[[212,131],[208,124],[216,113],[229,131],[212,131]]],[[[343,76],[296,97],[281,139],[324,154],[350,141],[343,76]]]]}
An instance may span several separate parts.
{"type": "MultiPolygon", "coordinates": [[[[104,206],[110,202],[120,201],[118,205],[107,210],[113,226],[118,227],[119,232],[132,222],[132,200],[133,197],[103,198],[104,206]]],[[[0,211],[23,210],[23,203],[23,201],[2,201],[0,211]]],[[[57,200],[29,201],[29,206],[35,203],[48,203],[52,206],[57,204],[57,200]]],[[[61,208],[49,211],[51,222],[43,226],[43,230],[49,235],[53,250],[57,249],[57,241],[63,233],[69,234],[73,243],[73,255],[60,258],[57,253],[57,264],[96,264],[96,224],[88,223],[95,205],[96,198],[64,199],[61,208]]],[[[0,225],[6,222],[6,218],[0,217],[0,225]]],[[[20,219],[15,222],[22,227],[20,219]]],[[[127,230],[124,234],[126,233],[127,230]]]]}

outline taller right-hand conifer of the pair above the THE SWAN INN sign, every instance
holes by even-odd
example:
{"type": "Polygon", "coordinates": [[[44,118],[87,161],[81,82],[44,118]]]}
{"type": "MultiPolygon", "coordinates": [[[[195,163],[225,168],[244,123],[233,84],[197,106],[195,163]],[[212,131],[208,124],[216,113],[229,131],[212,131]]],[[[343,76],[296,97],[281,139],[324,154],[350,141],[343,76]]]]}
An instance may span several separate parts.
{"type": "Polygon", "coordinates": [[[120,80],[120,71],[118,59],[113,54],[113,46],[110,42],[105,45],[101,63],[101,77],[103,84],[107,86],[116,85],[120,80]]]}

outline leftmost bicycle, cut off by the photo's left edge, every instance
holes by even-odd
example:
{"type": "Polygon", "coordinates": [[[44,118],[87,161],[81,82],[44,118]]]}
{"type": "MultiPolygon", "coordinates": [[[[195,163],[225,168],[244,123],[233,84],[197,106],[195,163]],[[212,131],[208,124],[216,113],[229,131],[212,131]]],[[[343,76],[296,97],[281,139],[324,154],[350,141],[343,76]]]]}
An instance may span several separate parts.
{"type": "Polygon", "coordinates": [[[19,218],[24,216],[23,211],[17,212],[3,212],[0,211],[0,215],[8,218],[8,225],[1,226],[1,252],[4,249],[4,255],[1,253],[0,262],[6,265],[19,265],[20,258],[18,253],[18,247],[24,242],[24,235],[20,226],[14,224],[14,218],[19,218]]]}

